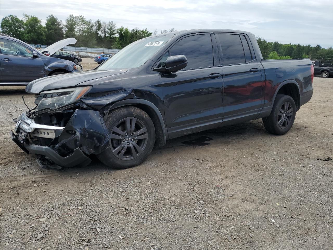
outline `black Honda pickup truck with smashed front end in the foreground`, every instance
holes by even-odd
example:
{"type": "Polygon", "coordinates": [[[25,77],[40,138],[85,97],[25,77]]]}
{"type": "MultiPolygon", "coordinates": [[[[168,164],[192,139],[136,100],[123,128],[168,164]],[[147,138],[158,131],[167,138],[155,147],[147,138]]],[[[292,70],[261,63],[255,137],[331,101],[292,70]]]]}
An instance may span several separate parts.
{"type": "Polygon", "coordinates": [[[11,137],[42,167],[142,163],[167,139],[261,118],[283,135],[312,97],[309,59],[263,60],[253,34],[187,30],[138,40],[91,71],[39,79],[11,137]]]}

